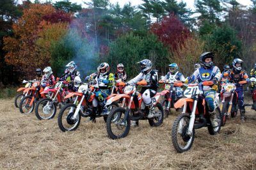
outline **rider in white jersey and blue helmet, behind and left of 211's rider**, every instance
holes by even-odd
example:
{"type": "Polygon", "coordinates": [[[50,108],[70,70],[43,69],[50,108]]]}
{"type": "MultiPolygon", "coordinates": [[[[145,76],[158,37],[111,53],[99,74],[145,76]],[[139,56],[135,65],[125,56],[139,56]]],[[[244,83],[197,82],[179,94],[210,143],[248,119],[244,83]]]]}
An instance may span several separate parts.
{"type": "MultiPolygon", "coordinates": [[[[182,73],[178,72],[179,66],[176,63],[172,63],[169,66],[169,72],[161,79],[162,81],[185,81],[185,77],[182,73]]],[[[176,94],[172,94],[172,100],[177,100],[182,97],[182,90],[180,87],[175,87],[176,94]]]]}

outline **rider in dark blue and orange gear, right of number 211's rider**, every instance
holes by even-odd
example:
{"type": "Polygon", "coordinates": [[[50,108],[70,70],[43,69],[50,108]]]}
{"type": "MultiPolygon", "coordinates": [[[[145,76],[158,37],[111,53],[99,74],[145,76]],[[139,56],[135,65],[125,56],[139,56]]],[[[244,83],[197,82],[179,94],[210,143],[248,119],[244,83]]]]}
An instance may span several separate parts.
{"type": "MultiPolygon", "coordinates": [[[[238,99],[238,107],[240,109],[241,114],[241,121],[244,122],[244,92],[243,92],[243,84],[238,84],[239,81],[249,81],[248,75],[245,70],[242,69],[243,60],[236,58],[233,60],[232,65],[233,68],[230,71],[229,77],[231,81],[236,83],[236,92],[237,92],[237,99],[238,99]]],[[[236,100],[236,98],[234,98],[236,100]]]]}

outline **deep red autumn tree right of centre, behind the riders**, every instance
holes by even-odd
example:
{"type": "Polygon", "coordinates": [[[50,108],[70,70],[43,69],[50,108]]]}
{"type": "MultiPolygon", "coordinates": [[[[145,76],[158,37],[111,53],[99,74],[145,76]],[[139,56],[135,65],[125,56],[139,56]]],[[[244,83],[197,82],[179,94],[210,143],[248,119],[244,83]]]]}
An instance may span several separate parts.
{"type": "Polygon", "coordinates": [[[159,24],[152,24],[150,31],[172,51],[184,45],[185,40],[191,36],[189,29],[175,15],[164,17],[159,24]]]}

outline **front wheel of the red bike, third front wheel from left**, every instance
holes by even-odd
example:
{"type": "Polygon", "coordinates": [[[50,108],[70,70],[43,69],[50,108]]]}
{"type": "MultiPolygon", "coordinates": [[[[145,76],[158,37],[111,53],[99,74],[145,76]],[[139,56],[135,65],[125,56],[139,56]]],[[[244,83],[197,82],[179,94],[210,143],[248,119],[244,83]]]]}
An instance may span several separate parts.
{"type": "Polygon", "coordinates": [[[38,120],[50,120],[56,114],[56,104],[52,103],[51,98],[42,98],[39,100],[35,107],[35,114],[38,120]]]}

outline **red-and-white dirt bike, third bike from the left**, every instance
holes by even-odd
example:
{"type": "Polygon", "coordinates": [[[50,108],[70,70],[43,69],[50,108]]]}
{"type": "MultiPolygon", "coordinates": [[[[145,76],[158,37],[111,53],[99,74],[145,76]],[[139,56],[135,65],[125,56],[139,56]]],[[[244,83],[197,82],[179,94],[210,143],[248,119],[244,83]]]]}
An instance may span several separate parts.
{"type": "Polygon", "coordinates": [[[50,96],[42,98],[37,102],[35,115],[38,120],[50,120],[54,118],[57,111],[57,105],[63,105],[70,101],[69,98],[64,100],[67,93],[71,92],[68,91],[67,85],[68,82],[66,81],[57,81],[54,88],[45,88],[44,91],[40,93],[41,95],[49,94],[50,96]]]}

